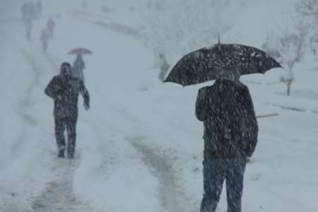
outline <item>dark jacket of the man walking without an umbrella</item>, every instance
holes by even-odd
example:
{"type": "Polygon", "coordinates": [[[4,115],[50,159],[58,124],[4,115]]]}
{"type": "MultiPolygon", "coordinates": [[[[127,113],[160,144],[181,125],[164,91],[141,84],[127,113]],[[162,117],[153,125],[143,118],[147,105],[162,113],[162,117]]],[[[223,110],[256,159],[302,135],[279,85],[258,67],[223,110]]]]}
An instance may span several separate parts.
{"type": "Polygon", "coordinates": [[[68,73],[54,76],[45,88],[45,94],[54,100],[54,116],[78,115],[78,95],[84,98],[84,105],[90,105],[90,95],[83,82],[68,73]]]}

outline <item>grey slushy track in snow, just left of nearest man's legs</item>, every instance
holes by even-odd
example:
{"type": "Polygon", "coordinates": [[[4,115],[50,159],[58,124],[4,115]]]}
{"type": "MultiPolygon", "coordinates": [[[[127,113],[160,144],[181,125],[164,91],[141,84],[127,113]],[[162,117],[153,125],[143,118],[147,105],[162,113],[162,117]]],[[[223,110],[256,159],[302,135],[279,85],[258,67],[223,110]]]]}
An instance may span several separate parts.
{"type": "Polygon", "coordinates": [[[170,162],[158,155],[158,151],[144,145],[142,141],[146,139],[143,136],[135,136],[126,138],[138,153],[141,153],[143,163],[148,167],[151,173],[159,180],[158,197],[163,207],[162,211],[182,212],[179,206],[179,195],[175,172],[170,162]]]}

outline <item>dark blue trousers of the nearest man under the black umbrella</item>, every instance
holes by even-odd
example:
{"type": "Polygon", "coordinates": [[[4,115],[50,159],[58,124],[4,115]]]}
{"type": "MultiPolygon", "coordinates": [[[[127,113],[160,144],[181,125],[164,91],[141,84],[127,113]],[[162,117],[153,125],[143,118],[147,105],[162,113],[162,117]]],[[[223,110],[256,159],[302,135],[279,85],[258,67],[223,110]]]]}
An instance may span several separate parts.
{"type": "Polygon", "coordinates": [[[241,212],[246,158],[205,159],[201,212],[214,212],[226,180],[228,212],[241,212]]]}

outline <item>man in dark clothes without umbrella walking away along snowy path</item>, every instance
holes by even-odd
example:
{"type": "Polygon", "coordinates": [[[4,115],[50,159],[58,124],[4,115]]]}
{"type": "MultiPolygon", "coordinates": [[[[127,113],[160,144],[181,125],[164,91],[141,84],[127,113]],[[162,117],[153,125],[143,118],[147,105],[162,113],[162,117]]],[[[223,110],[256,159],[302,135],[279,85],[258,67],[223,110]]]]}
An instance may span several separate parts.
{"type": "Polygon", "coordinates": [[[71,64],[61,64],[61,73],[54,76],[45,88],[45,94],[54,100],[55,136],[58,157],[64,158],[66,142],[64,131],[68,135],[67,157],[73,158],[76,146],[76,122],[78,118],[78,95],[81,93],[86,110],[90,108],[90,96],[82,81],[71,76],[71,64]]]}

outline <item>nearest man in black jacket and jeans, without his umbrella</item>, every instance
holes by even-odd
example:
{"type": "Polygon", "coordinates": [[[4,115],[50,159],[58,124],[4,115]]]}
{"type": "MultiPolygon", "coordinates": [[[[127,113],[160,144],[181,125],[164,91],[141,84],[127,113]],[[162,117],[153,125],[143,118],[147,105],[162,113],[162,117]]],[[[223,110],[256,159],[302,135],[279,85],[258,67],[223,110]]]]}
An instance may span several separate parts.
{"type": "Polygon", "coordinates": [[[247,158],[257,145],[257,119],[240,75],[234,70],[220,73],[213,86],[201,88],[196,98],[196,117],[204,122],[201,212],[216,211],[224,181],[228,211],[241,212],[247,158]]]}

